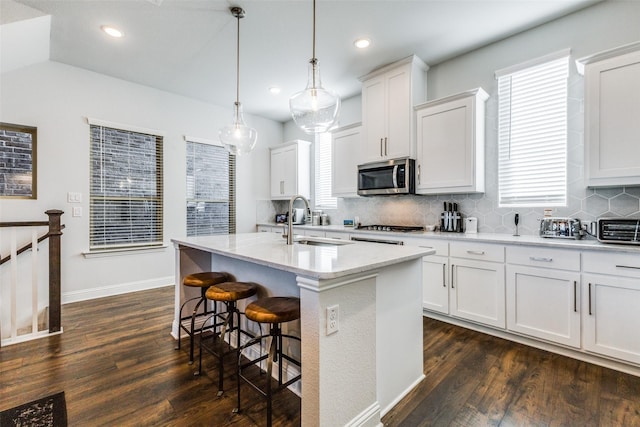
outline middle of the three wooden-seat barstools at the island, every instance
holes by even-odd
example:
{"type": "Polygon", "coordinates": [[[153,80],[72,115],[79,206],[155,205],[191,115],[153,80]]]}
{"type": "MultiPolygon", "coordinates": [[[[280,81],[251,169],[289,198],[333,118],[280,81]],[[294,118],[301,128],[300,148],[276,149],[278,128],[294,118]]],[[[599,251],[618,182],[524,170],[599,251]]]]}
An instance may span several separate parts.
{"type": "Polygon", "coordinates": [[[250,282],[224,282],[213,285],[207,289],[205,296],[214,302],[222,302],[226,305],[227,310],[221,313],[214,313],[202,324],[202,332],[206,329],[213,329],[211,335],[211,344],[205,342],[204,334],[200,334],[200,356],[198,360],[198,372],[196,375],[202,374],[202,350],[205,349],[218,359],[218,396],[224,392],[224,356],[229,353],[235,353],[240,348],[240,335],[245,334],[251,338],[254,335],[243,330],[240,327],[240,310],[238,310],[237,302],[249,298],[258,292],[258,285],[250,282]],[[235,317],[235,320],[234,320],[235,317]],[[211,322],[211,323],[210,323],[211,322]],[[220,333],[217,328],[220,327],[220,333]],[[225,351],[225,334],[229,333],[229,346],[231,346],[231,332],[236,332],[235,348],[225,351]],[[217,345],[216,345],[217,342],[217,345]]]}

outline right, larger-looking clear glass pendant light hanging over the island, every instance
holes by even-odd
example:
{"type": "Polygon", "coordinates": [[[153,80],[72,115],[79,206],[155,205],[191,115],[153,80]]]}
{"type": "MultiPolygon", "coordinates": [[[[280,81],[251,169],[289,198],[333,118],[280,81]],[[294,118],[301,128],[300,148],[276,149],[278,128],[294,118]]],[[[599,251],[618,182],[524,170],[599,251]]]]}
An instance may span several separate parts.
{"type": "Polygon", "coordinates": [[[289,98],[293,121],[308,134],[326,132],[335,124],[340,111],[340,97],[324,89],[316,58],[316,0],[313,0],[313,57],[309,61],[307,87],[289,98]]]}

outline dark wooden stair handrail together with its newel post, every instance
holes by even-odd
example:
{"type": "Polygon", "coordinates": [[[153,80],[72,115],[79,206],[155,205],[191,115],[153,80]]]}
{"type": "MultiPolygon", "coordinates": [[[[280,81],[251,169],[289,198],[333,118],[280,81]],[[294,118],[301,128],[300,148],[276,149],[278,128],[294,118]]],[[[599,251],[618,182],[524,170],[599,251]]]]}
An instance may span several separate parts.
{"type": "MultiPolygon", "coordinates": [[[[60,281],[60,237],[64,225],[60,224],[60,217],[64,213],[59,209],[50,209],[45,212],[49,217],[49,221],[20,221],[20,222],[2,222],[0,227],[41,227],[48,226],[49,231],[42,237],[38,238],[38,243],[45,239],[49,239],[49,333],[59,332],[62,325],[62,299],[61,299],[61,281],[60,281]]],[[[29,243],[17,251],[17,254],[23,253],[31,248],[29,243]]],[[[2,258],[0,265],[11,259],[11,255],[2,258]]],[[[0,345],[1,346],[1,345],[0,345]]]]}

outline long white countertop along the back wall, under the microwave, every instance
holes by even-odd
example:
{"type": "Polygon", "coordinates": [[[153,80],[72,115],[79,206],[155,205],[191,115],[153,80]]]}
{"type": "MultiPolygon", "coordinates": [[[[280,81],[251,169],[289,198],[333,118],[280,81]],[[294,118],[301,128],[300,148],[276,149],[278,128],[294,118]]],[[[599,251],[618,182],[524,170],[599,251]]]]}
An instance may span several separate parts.
{"type": "MultiPolygon", "coordinates": [[[[266,226],[279,226],[282,224],[275,223],[261,223],[257,225],[266,226]]],[[[640,246],[638,245],[624,245],[624,244],[612,244],[601,243],[593,237],[586,237],[581,240],[576,239],[563,239],[563,238],[548,238],[531,235],[513,236],[511,234],[500,233],[477,233],[477,234],[465,234],[465,233],[441,233],[441,232],[391,232],[391,231],[372,231],[372,230],[359,230],[353,227],[344,227],[342,225],[295,225],[295,229],[299,230],[318,230],[318,231],[330,231],[341,232],[349,234],[368,234],[376,235],[386,238],[398,238],[403,239],[416,239],[416,238],[429,238],[440,239],[448,241],[469,241],[469,242],[485,242],[485,243],[501,243],[509,245],[527,245],[527,246],[544,246],[549,248],[564,248],[564,249],[577,249],[577,250],[599,250],[609,252],[628,252],[636,253],[640,255],[640,246]]]]}

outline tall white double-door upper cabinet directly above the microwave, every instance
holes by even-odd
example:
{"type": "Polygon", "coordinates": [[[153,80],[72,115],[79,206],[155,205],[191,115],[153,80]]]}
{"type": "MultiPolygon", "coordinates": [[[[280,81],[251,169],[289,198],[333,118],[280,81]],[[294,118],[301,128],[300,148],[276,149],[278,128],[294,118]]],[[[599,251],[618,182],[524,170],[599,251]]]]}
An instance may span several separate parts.
{"type": "Polygon", "coordinates": [[[360,78],[363,163],[415,158],[413,106],[426,99],[428,68],[413,55],[360,78]]]}

